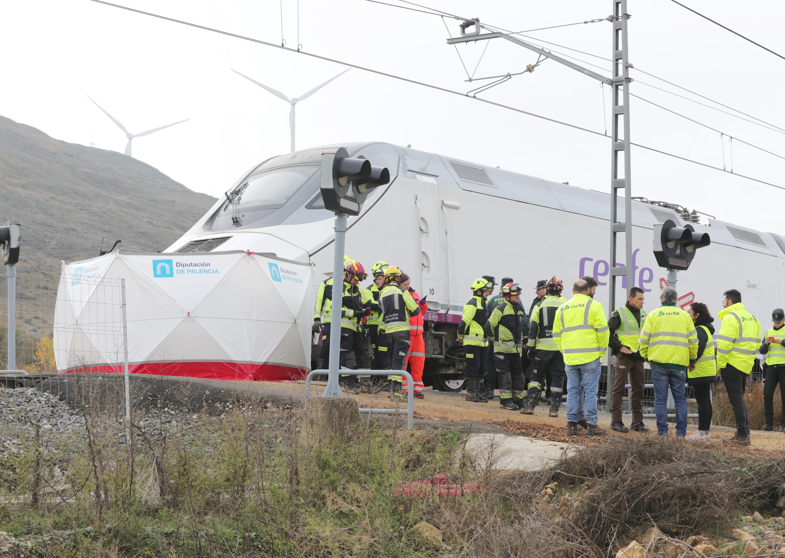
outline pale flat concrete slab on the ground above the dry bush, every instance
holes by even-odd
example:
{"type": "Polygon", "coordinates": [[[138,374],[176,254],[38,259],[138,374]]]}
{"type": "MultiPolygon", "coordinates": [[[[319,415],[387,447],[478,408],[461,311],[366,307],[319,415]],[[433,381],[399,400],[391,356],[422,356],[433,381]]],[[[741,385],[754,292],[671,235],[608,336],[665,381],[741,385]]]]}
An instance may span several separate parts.
{"type": "Polygon", "coordinates": [[[480,466],[501,471],[545,469],[575,449],[568,443],[506,434],[472,434],[466,441],[466,451],[477,459],[480,466]]]}

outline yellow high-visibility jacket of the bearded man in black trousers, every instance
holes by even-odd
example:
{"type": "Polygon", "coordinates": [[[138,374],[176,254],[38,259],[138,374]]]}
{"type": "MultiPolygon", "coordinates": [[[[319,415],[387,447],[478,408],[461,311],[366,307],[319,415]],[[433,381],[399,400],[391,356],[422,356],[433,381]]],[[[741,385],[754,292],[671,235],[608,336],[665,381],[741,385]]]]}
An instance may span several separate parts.
{"type": "Polygon", "coordinates": [[[717,368],[722,370],[730,364],[750,374],[761,342],[758,318],[747,312],[741,302],[722,308],[717,316],[722,320],[717,334],[717,368]]]}

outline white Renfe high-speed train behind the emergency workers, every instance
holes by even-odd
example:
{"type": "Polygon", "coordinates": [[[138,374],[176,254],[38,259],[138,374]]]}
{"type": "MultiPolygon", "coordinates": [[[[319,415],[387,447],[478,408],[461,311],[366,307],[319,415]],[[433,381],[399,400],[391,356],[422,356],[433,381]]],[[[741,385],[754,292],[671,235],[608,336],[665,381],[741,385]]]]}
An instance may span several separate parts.
{"type": "MultiPolygon", "coordinates": [[[[425,379],[437,388],[463,383],[462,360],[452,358],[449,347],[469,286],[480,275],[512,277],[531,287],[532,298],[538,279],[557,275],[569,297],[576,278],[593,275],[600,285],[597,300],[610,314],[608,194],[392,144],[344,147],[349,156],[386,166],[391,177],[371,191],[360,216],[349,217],[345,252],[369,272],[378,260],[399,266],[418,293],[428,295],[426,350],[433,356],[425,379]]],[[[250,250],[309,261],[315,298],[319,283],[332,274],[334,242],[334,214],[324,209],[319,193],[321,158],[322,148],[313,148],[254,166],[166,251],[250,250]]],[[[659,305],[666,275],[652,253],[652,228],[666,219],[684,224],[682,217],[633,202],[634,286],[645,291],[649,310],[659,305]]],[[[710,233],[711,245],[679,274],[681,304],[703,301],[716,313],[723,291],[735,288],[768,327],[772,309],[783,306],[785,236],[717,219],[696,224],[696,230],[710,233]]],[[[627,287],[619,286],[617,301],[626,299],[627,287]]],[[[530,301],[522,297],[527,311],[530,301]]]]}

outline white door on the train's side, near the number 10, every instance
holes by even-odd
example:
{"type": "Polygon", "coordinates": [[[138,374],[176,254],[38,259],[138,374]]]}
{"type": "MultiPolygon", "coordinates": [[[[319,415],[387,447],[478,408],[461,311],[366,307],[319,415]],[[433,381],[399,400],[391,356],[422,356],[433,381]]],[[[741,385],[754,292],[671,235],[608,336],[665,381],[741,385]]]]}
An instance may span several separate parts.
{"type": "MultiPolygon", "coordinates": [[[[417,289],[423,297],[428,295],[430,310],[438,312],[441,300],[446,300],[442,286],[442,239],[440,234],[439,186],[436,181],[418,181],[414,194],[417,209],[419,279],[417,289]]],[[[415,279],[416,280],[416,279],[415,279]]],[[[414,282],[413,282],[414,283],[414,282]]]]}

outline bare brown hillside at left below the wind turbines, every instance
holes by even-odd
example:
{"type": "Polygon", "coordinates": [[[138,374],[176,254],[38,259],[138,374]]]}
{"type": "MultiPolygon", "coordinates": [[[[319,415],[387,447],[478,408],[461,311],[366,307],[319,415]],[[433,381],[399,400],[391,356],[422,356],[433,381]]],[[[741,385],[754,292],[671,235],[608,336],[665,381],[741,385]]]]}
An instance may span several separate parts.
{"type": "Polygon", "coordinates": [[[105,250],[163,250],[214,202],[137,159],[0,116],[0,218],[22,224],[20,271],[57,273],[97,256],[102,237],[105,250]]]}

